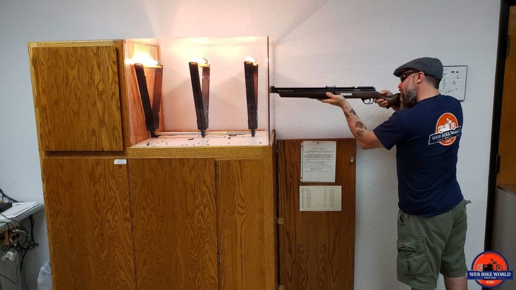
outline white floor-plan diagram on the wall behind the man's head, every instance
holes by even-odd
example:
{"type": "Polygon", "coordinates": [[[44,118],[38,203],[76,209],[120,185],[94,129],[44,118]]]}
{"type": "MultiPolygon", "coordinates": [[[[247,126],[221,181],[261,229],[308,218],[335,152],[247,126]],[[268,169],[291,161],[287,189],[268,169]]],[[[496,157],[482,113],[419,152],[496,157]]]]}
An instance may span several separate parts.
{"type": "Polygon", "coordinates": [[[439,92],[451,95],[459,101],[464,101],[466,96],[466,75],[467,66],[444,66],[439,92]]]}

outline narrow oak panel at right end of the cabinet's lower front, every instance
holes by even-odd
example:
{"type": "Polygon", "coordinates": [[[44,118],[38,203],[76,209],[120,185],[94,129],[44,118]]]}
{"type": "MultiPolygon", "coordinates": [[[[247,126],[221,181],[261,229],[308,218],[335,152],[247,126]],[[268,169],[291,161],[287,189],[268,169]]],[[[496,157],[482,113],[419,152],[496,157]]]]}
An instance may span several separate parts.
{"type": "Polygon", "coordinates": [[[263,205],[267,193],[262,161],[221,160],[217,164],[220,288],[266,289],[263,205]]]}

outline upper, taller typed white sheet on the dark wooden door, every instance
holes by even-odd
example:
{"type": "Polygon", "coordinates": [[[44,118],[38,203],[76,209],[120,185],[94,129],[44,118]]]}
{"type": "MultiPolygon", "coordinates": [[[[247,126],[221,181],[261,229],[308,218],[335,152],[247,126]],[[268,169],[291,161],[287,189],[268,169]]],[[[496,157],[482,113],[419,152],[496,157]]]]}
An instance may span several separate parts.
{"type": "Polygon", "coordinates": [[[301,142],[301,182],[335,182],[337,141],[301,142]]]}

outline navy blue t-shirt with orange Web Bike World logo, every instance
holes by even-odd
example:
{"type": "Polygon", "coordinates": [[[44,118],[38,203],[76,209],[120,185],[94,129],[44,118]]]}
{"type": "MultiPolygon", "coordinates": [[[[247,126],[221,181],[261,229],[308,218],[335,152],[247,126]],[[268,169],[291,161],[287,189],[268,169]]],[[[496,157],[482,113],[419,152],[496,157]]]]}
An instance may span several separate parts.
{"type": "Polygon", "coordinates": [[[462,201],[456,169],[461,130],[460,102],[441,94],[394,112],[373,130],[386,149],[396,145],[401,211],[436,216],[462,201]]]}

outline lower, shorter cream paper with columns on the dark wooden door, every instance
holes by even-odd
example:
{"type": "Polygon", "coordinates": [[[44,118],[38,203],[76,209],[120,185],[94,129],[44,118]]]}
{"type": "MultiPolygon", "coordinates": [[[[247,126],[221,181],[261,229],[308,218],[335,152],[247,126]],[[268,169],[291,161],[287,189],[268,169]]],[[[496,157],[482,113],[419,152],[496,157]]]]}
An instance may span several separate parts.
{"type": "Polygon", "coordinates": [[[299,210],[301,212],[342,211],[342,186],[299,186],[299,210]]]}

